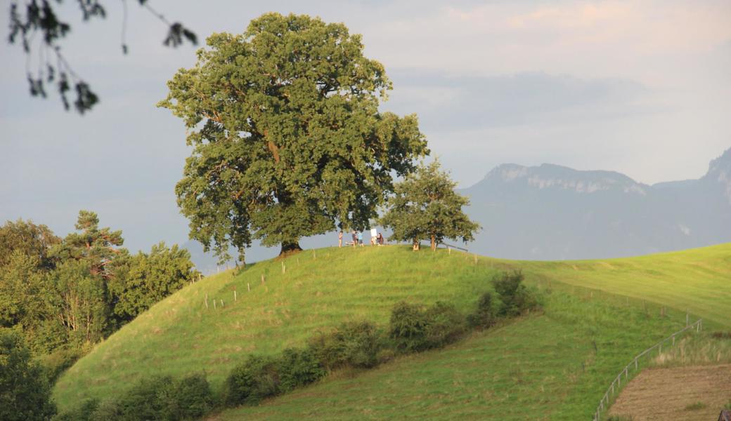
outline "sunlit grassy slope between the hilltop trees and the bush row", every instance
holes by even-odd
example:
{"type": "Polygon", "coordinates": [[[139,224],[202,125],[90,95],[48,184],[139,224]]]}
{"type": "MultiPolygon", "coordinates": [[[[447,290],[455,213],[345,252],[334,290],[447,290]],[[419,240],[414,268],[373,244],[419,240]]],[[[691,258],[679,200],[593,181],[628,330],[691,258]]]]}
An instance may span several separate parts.
{"type": "Polygon", "coordinates": [[[492,272],[471,256],[406,247],[330,248],[257,263],[238,276],[205,278],[156,304],[61,376],[54,395],[64,409],[80,398],[113,395],[140,376],[203,369],[216,387],[249,353],[302,345],[317,328],[344,320],[386,323],[401,300],[442,300],[466,309],[488,288],[492,272]]]}

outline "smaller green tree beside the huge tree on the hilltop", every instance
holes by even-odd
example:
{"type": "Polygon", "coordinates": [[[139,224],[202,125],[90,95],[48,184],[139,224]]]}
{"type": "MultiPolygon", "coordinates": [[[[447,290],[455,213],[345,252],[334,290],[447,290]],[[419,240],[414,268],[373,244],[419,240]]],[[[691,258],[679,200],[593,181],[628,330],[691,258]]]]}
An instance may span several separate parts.
{"type": "Polygon", "coordinates": [[[393,230],[390,239],[411,241],[414,250],[419,250],[422,239],[429,239],[431,250],[436,250],[436,244],[443,239],[474,240],[480,224],[462,212],[469,198],[455,193],[457,183],[440,167],[439,161],[421,165],[394,185],[390,207],[379,220],[393,230]]]}

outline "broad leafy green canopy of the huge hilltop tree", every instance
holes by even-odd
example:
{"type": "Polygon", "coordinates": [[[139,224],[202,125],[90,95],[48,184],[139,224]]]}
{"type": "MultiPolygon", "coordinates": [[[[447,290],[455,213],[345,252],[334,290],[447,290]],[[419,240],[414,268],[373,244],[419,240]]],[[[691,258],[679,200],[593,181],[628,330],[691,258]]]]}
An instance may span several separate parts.
{"type": "Polygon", "coordinates": [[[221,258],[252,239],[281,251],[304,236],[363,229],[414,158],[417,117],[379,112],[392,84],[341,23],[267,13],[213,34],[159,106],[194,147],[175,191],[190,236],[221,258]]]}

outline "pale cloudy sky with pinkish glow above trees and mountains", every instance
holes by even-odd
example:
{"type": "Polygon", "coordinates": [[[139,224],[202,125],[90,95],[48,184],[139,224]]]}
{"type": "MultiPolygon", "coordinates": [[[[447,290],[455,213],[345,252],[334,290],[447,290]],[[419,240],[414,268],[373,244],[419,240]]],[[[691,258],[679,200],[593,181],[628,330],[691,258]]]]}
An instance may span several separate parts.
{"type": "MultiPolygon", "coordinates": [[[[26,61],[34,69],[36,58],[0,42],[0,222],[22,217],[65,236],[89,209],[130,250],[186,242],[174,188],[190,150],[182,121],[155,104],[196,48],[163,47],[167,28],[128,0],[123,55],[121,3],[103,2],[107,18],[88,23],[75,1],[60,9],[72,23],[62,51],[101,98],[87,115],[65,112],[54,93],[31,98],[26,61]]],[[[149,4],[201,42],[269,11],[363,34],[366,56],[393,80],[382,109],[416,113],[462,188],[501,163],[696,179],[731,147],[727,0],[149,4]]]]}

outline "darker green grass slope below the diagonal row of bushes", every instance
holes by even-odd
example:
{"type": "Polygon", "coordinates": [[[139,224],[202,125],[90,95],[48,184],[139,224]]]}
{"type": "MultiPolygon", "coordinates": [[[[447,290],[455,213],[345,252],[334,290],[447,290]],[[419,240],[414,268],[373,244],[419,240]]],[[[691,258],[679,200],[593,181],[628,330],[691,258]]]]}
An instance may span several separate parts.
{"type": "Polygon", "coordinates": [[[447,349],[341,375],[216,420],[590,419],[637,352],[684,324],[624,301],[551,293],[545,313],[447,349]],[[596,347],[595,347],[596,346],[596,347]]]}

